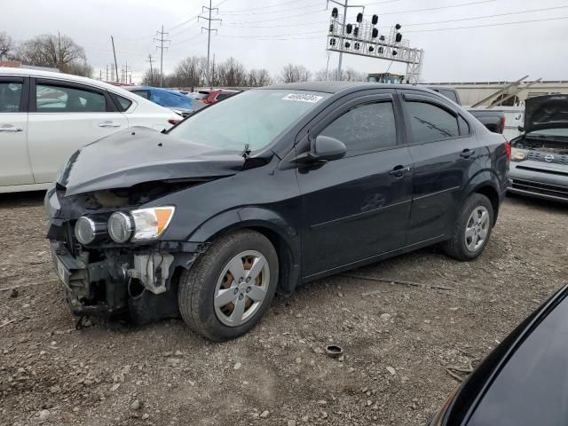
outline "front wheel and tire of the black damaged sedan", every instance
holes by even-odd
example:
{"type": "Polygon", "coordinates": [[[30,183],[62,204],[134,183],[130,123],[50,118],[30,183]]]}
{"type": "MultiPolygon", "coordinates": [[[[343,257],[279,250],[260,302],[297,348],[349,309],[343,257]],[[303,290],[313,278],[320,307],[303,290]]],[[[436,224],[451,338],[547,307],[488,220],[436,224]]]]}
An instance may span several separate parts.
{"type": "Polygon", "coordinates": [[[180,277],[179,312],[196,333],[224,342],[255,327],[278,285],[278,256],[261,233],[215,241],[180,277]]]}

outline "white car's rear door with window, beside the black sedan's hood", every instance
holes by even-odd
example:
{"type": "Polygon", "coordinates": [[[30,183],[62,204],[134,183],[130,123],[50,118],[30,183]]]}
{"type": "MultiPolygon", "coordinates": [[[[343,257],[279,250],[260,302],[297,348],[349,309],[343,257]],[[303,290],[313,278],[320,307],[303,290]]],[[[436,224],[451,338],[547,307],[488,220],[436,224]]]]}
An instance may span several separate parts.
{"type": "Polygon", "coordinates": [[[32,79],[28,146],[36,183],[54,180],[77,149],[128,127],[106,91],[81,83],[32,79]]]}

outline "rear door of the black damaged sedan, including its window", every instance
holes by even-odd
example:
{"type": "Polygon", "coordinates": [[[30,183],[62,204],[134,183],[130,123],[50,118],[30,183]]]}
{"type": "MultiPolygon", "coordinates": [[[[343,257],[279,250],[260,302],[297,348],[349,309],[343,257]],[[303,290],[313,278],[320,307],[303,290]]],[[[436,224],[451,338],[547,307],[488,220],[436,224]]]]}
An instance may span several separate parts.
{"type": "Polygon", "coordinates": [[[407,243],[415,244],[451,232],[462,190],[487,153],[457,106],[423,91],[398,91],[414,162],[407,243]]]}

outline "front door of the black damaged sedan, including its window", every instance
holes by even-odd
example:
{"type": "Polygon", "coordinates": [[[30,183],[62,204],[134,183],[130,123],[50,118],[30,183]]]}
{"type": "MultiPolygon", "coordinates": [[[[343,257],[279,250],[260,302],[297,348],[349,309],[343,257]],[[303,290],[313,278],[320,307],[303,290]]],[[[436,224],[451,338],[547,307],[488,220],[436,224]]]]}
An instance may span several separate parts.
{"type": "Polygon", "coordinates": [[[405,245],[412,162],[398,146],[395,111],[390,93],[359,96],[312,132],[341,140],[347,154],[297,170],[304,277],[405,245]]]}

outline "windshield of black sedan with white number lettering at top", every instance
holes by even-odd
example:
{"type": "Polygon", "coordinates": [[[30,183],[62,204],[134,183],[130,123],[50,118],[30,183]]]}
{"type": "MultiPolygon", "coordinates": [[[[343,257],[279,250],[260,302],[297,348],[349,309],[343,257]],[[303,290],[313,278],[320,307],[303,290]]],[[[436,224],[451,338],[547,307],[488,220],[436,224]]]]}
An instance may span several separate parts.
{"type": "Polygon", "coordinates": [[[242,151],[268,146],[280,133],[329,96],[313,91],[244,91],[190,116],[170,130],[201,145],[242,151]]]}

